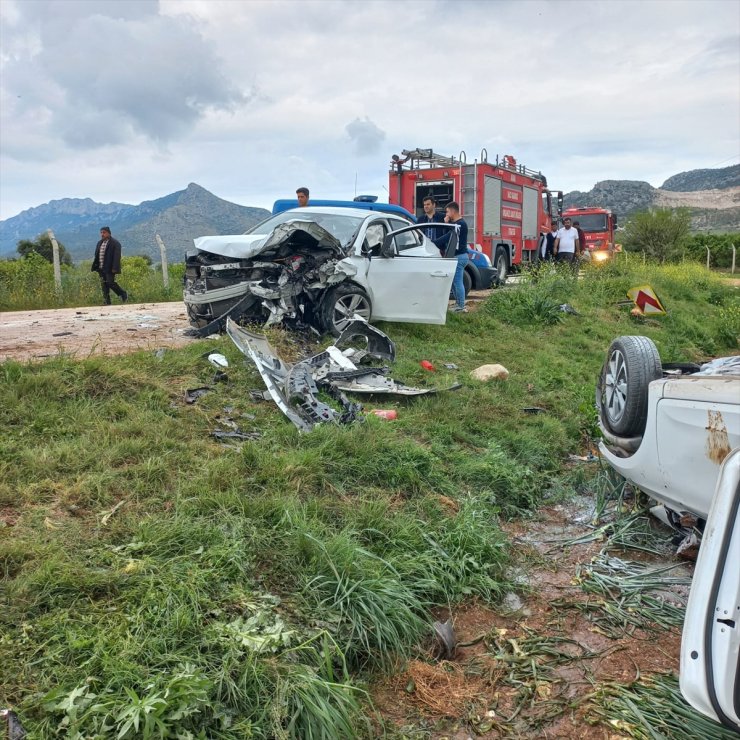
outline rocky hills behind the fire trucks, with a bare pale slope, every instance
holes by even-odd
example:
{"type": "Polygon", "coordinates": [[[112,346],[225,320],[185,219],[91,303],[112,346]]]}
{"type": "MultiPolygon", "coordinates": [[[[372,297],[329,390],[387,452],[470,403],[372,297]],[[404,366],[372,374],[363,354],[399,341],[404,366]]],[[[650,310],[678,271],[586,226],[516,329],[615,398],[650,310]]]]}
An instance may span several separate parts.
{"type": "Polygon", "coordinates": [[[681,172],[660,188],[640,180],[604,180],[587,193],[566,193],[564,201],[566,208],[610,208],[622,223],[650,207],[689,208],[694,231],[740,231],[740,165],[681,172]]]}

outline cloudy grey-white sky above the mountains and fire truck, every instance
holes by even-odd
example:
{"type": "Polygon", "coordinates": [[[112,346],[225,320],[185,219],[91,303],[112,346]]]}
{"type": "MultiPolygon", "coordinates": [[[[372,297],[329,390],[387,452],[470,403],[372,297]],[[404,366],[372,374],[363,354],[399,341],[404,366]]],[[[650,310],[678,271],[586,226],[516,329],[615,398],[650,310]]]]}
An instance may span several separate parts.
{"type": "Polygon", "coordinates": [[[740,0],[0,0],[0,218],[197,182],[387,196],[402,149],[552,187],[740,155],[740,0]]]}

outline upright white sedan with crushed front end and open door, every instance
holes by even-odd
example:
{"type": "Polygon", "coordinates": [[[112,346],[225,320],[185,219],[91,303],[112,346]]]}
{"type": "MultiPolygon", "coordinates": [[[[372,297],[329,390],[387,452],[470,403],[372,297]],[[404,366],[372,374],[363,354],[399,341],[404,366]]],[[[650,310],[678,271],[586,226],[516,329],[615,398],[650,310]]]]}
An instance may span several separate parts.
{"type": "Polygon", "coordinates": [[[190,322],[201,336],[227,318],[335,336],[355,317],[444,324],[456,262],[421,228],[379,211],[308,207],[246,234],[200,237],[185,265],[190,322]]]}

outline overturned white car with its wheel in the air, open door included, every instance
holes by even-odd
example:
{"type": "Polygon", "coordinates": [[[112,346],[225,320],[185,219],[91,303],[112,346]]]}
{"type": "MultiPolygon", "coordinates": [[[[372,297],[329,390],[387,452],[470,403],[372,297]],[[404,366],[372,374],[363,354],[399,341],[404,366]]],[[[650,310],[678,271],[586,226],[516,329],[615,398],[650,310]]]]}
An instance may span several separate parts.
{"type": "Polygon", "coordinates": [[[664,364],[647,337],[615,339],[596,394],[602,458],[703,529],[681,641],[681,691],[740,732],[740,357],[664,364]]]}

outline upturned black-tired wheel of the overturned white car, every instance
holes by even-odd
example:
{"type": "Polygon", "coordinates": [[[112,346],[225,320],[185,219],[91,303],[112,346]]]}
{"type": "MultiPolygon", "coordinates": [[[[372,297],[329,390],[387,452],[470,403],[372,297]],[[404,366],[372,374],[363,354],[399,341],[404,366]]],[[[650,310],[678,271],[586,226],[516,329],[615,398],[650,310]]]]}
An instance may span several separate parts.
{"type": "Polygon", "coordinates": [[[601,416],[605,426],[622,437],[645,431],[648,386],[663,376],[658,349],[647,337],[617,337],[601,371],[601,416]]]}

